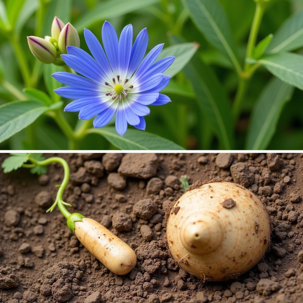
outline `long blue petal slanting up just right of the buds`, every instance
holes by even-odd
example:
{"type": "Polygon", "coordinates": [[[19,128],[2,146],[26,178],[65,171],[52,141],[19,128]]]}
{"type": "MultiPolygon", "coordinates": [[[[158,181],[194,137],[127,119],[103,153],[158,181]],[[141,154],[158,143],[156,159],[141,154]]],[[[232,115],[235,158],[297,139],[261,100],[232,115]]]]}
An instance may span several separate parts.
{"type": "Polygon", "coordinates": [[[108,63],[108,60],[106,58],[105,52],[96,38],[96,36],[87,28],[84,29],[84,38],[85,42],[89,48],[89,51],[92,53],[95,60],[100,64],[101,68],[105,72],[105,74],[108,74],[112,72],[112,69],[108,63]]]}

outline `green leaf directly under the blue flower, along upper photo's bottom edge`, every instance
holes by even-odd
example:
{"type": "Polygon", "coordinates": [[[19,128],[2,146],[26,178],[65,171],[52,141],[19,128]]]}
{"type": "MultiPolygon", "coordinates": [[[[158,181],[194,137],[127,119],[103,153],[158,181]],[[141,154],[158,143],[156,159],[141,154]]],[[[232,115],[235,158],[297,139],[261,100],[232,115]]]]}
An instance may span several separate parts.
{"type": "Polygon", "coordinates": [[[121,137],[117,134],[115,127],[107,126],[102,128],[91,128],[90,133],[102,135],[112,145],[122,150],[175,150],[184,149],[174,142],[162,138],[158,135],[151,134],[145,131],[128,129],[125,135],[121,137]]]}

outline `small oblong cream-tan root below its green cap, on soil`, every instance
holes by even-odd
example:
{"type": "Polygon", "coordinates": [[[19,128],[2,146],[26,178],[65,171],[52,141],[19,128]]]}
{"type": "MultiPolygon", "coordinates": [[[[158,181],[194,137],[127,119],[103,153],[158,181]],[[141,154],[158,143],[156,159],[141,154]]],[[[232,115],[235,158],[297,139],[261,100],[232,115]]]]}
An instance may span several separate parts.
{"type": "Polygon", "coordinates": [[[117,275],[128,274],[137,263],[135,252],[99,222],[82,218],[75,221],[75,235],[104,266],[117,275]]]}

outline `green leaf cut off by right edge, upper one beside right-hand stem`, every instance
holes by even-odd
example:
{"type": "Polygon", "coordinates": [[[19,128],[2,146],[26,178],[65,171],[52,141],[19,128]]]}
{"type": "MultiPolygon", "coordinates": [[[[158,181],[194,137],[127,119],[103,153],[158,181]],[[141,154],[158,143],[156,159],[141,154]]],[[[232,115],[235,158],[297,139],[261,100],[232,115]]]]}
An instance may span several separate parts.
{"type": "Polygon", "coordinates": [[[275,33],[267,52],[293,51],[303,46],[303,12],[290,16],[275,33]]]}

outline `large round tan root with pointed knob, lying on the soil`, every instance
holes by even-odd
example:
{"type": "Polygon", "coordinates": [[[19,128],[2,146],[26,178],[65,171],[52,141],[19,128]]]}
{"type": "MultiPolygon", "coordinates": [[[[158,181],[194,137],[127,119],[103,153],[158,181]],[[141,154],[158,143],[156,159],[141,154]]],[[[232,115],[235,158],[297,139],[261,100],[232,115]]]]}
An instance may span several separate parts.
{"type": "Polygon", "coordinates": [[[165,209],[165,218],[171,255],[203,280],[238,278],[270,245],[265,205],[243,186],[219,178],[191,185],[165,209]]]}

